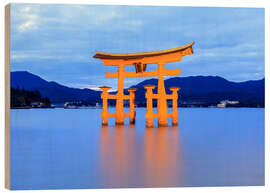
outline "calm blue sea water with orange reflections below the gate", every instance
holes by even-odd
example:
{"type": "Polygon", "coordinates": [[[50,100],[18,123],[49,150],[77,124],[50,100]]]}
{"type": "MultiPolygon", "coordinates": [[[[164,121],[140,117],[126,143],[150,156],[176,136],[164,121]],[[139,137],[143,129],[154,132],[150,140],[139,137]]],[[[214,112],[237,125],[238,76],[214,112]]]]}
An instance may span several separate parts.
{"type": "Polygon", "coordinates": [[[144,108],[132,127],[100,112],[11,110],[11,189],[264,185],[264,109],[180,108],[152,129],[144,108]]]}

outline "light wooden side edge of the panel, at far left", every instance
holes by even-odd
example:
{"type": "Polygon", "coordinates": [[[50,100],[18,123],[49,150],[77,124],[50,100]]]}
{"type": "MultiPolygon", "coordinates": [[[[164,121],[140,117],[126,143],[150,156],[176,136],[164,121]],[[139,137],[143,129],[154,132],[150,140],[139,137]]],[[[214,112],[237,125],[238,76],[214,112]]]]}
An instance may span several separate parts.
{"type": "Polygon", "coordinates": [[[5,6],[5,188],[10,189],[10,4],[5,6]]]}

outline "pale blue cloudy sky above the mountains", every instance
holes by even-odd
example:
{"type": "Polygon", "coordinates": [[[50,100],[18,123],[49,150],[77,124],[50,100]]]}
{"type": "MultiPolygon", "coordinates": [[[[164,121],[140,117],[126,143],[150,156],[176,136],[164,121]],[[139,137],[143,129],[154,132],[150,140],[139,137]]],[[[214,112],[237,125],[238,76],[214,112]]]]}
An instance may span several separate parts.
{"type": "MultiPolygon", "coordinates": [[[[194,54],[166,64],[181,76],[264,78],[264,9],[109,5],[11,5],[11,71],[76,88],[117,87],[95,50],[145,52],[195,42],[194,54]]],[[[155,65],[149,65],[155,69],[155,65]]],[[[132,70],[132,69],[127,69],[132,70]]],[[[148,77],[149,78],[149,77],[148,77]]],[[[147,78],[127,78],[125,87],[147,78]]]]}

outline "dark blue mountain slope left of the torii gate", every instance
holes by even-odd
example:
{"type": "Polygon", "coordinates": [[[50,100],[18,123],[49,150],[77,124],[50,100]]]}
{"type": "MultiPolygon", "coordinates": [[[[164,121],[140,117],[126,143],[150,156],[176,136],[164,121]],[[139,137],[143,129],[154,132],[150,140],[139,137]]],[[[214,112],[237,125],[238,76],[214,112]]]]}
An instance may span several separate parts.
{"type": "Polygon", "coordinates": [[[52,103],[68,101],[100,102],[100,91],[91,89],[78,89],[63,86],[54,81],[46,81],[27,71],[11,72],[11,87],[25,90],[38,90],[43,97],[50,98],[52,103]]]}

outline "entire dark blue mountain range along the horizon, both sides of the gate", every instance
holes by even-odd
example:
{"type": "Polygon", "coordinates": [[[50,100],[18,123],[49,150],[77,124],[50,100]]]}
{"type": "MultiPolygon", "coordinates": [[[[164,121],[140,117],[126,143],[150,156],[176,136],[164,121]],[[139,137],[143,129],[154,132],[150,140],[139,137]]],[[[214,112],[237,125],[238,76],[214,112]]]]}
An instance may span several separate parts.
{"type": "MultiPolygon", "coordinates": [[[[137,88],[135,103],[145,106],[144,85],[158,84],[157,79],[142,81],[132,88],[137,88]]],[[[216,105],[222,100],[237,100],[243,106],[264,106],[265,79],[245,82],[231,82],[218,76],[175,77],[165,80],[166,92],[170,87],[180,87],[179,102],[184,104],[216,105]]],[[[43,97],[52,103],[68,101],[89,101],[92,104],[101,102],[100,91],[91,89],[70,88],[56,82],[48,82],[39,76],[26,71],[11,72],[11,87],[25,90],[38,90],[43,97]]],[[[157,89],[154,89],[156,93],[157,89]]],[[[125,93],[128,94],[127,90],[125,93]]],[[[155,103],[155,101],[154,101],[155,103]]]]}

